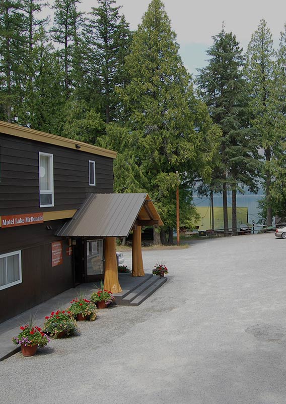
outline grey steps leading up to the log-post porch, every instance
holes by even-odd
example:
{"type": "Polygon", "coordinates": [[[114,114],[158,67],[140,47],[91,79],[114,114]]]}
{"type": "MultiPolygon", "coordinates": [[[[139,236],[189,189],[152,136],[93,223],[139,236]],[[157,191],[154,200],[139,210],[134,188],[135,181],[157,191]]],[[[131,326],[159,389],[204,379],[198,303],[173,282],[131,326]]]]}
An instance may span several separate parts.
{"type": "Polygon", "coordinates": [[[125,294],[122,299],[116,297],[116,304],[119,306],[139,306],[166,281],[166,277],[160,278],[152,275],[151,278],[138,285],[132,291],[129,291],[128,294],[125,294]]]}

